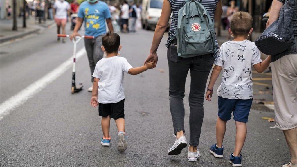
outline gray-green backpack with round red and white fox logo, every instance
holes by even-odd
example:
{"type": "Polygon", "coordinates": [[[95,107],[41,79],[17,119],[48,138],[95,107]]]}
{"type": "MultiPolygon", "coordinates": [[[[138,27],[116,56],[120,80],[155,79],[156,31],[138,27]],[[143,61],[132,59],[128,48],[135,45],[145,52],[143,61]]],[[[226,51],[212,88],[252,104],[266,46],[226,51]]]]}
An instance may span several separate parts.
{"type": "MultiPolygon", "coordinates": [[[[181,57],[193,57],[217,50],[214,23],[205,7],[198,0],[184,0],[178,10],[176,29],[177,53],[181,57]]],[[[173,40],[171,39],[171,40],[173,40]]]]}

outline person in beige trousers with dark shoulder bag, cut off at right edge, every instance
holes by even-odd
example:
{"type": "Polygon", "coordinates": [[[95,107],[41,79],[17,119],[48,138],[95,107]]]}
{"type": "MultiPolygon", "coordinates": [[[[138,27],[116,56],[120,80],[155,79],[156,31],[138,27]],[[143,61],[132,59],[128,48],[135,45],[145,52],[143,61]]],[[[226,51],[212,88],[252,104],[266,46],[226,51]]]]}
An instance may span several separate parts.
{"type": "MultiPolygon", "coordinates": [[[[297,17],[295,8],[293,18],[297,17]]],[[[285,0],[274,0],[266,28],[279,17],[285,0]]],[[[297,23],[293,21],[294,41],[297,39],[297,23]]],[[[285,25],[284,25],[285,26],[285,25]]],[[[277,47],[277,46],[275,46],[277,47]]],[[[285,135],[291,153],[291,161],[282,167],[297,167],[297,42],[282,53],[271,56],[274,114],[276,127],[285,135]]],[[[281,154],[281,153],[280,153],[281,154]]]]}

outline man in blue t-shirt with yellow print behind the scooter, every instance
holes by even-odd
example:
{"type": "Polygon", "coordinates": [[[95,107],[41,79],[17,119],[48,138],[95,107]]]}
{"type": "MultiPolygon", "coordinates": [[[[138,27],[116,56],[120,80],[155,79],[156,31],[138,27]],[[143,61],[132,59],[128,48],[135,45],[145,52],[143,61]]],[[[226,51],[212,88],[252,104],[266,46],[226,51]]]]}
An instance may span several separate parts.
{"type": "MultiPolygon", "coordinates": [[[[98,0],[88,0],[80,4],[78,10],[78,20],[76,22],[73,33],[70,35],[70,40],[75,36],[80,36],[78,30],[80,29],[83,21],[85,21],[85,35],[94,36],[94,39],[84,39],[85,47],[87,51],[87,56],[89,59],[89,65],[91,69],[91,81],[94,82],[94,69],[96,63],[102,59],[103,51],[102,46],[102,36],[106,33],[105,20],[109,31],[113,32],[113,26],[111,21],[110,10],[105,2],[98,0]]],[[[92,92],[92,86],[88,89],[92,92]]]]}

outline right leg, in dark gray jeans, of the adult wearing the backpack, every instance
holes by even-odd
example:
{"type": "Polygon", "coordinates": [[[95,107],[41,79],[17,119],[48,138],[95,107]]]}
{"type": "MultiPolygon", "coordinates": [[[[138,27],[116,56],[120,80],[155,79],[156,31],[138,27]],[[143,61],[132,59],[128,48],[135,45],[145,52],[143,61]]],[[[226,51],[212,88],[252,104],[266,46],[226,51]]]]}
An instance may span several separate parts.
{"type": "Polygon", "coordinates": [[[190,146],[189,151],[196,152],[196,146],[199,144],[201,127],[203,122],[203,100],[206,88],[206,82],[214,63],[211,54],[192,57],[191,86],[189,93],[189,124],[190,124],[190,146]]]}

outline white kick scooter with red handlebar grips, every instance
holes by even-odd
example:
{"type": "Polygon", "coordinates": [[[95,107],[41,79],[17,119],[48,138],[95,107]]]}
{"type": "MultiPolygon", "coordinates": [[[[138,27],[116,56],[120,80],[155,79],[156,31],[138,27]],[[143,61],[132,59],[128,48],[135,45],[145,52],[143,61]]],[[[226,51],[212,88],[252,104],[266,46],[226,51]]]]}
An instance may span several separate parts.
{"type": "MultiPolygon", "coordinates": [[[[66,34],[58,34],[58,37],[69,37],[69,35],[66,34]]],[[[74,44],[73,47],[73,67],[72,67],[72,86],[71,86],[71,93],[74,94],[76,92],[81,91],[83,88],[83,84],[75,85],[75,63],[76,63],[76,44],[82,39],[82,38],[89,38],[93,39],[93,36],[76,36],[75,39],[72,39],[72,42],[74,44]]]]}

